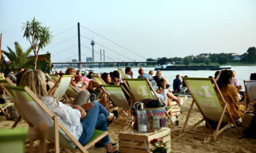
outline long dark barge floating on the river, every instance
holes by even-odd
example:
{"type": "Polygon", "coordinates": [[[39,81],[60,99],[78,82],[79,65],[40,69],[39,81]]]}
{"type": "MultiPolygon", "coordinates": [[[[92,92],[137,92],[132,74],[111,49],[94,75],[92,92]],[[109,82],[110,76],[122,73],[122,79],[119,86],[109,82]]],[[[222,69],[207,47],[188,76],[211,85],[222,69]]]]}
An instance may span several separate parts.
{"type": "Polygon", "coordinates": [[[231,65],[173,65],[173,64],[163,64],[155,65],[155,70],[161,71],[179,71],[179,70],[222,70],[230,69],[231,65]]]}

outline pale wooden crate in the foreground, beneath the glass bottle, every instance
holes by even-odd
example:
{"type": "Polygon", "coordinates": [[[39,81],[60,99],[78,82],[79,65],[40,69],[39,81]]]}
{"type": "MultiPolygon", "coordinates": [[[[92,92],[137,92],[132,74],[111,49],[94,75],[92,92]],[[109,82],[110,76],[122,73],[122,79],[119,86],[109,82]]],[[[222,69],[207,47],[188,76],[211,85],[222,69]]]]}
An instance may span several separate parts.
{"type": "Polygon", "coordinates": [[[138,133],[137,130],[135,130],[133,134],[130,132],[131,129],[119,133],[119,151],[122,153],[148,153],[144,141],[147,143],[148,148],[151,149],[153,148],[150,144],[152,139],[162,140],[163,143],[166,144],[167,152],[170,152],[171,150],[169,128],[161,128],[155,132],[143,134],[138,133]]]}

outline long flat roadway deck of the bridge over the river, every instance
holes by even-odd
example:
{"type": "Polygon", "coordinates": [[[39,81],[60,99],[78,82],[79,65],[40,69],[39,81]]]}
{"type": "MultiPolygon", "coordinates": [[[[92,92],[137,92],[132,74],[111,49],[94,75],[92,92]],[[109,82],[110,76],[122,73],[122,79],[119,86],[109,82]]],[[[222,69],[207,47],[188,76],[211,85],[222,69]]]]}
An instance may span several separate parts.
{"type": "Polygon", "coordinates": [[[119,68],[119,64],[125,64],[125,63],[145,63],[145,64],[157,64],[157,61],[91,61],[91,62],[84,62],[84,61],[77,61],[77,62],[54,62],[52,64],[99,64],[99,68],[101,68],[101,64],[110,64],[110,63],[115,63],[118,65],[119,68]]]}

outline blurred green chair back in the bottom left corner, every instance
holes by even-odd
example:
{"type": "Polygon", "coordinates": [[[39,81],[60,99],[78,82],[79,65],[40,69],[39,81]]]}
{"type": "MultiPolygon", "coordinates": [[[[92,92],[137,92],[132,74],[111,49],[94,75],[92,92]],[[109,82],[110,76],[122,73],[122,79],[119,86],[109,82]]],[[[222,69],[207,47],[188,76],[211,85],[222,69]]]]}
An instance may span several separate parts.
{"type": "Polygon", "coordinates": [[[0,152],[25,152],[28,128],[0,129],[0,152]]]}

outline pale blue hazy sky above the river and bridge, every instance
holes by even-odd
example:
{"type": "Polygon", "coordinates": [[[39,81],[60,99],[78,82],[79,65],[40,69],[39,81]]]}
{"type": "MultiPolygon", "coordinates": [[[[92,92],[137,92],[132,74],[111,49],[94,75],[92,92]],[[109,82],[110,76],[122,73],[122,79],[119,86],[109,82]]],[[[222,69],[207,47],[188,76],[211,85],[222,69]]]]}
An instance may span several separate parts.
{"type": "Polygon", "coordinates": [[[200,53],[243,54],[256,46],[255,6],[255,0],[0,0],[1,49],[9,46],[14,50],[16,41],[23,50],[29,48],[22,26],[35,17],[54,36],[40,51],[49,51],[53,62],[78,59],[78,22],[82,61],[92,56],[92,38],[98,52],[95,61],[100,61],[100,49],[105,50],[105,61],[145,61],[200,53]]]}

